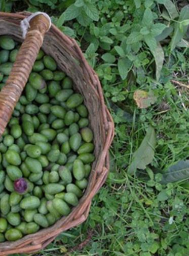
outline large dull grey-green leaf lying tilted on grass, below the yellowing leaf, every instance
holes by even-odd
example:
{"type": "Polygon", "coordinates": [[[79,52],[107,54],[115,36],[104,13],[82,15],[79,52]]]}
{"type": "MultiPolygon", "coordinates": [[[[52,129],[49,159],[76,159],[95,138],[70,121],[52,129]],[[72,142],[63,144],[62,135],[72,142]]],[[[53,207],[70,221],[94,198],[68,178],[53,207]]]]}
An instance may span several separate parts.
{"type": "Polygon", "coordinates": [[[128,173],[134,175],[136,169],[144,170],[154,159],[156,147],[156,134],[152,126],[148,126],[146,135],[139,148],[133,155],[132,163],[128,168],[128,173]]]}

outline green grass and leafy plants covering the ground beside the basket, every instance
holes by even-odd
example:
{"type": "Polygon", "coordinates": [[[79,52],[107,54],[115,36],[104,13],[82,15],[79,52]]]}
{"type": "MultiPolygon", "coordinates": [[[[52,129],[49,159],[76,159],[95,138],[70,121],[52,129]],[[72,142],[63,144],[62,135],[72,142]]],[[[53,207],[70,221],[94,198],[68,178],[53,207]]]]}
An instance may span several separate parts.
{"type": "Polygon", "coordinates": [[[35,255],[189,255],[188,2],[2,0],[0,9],[48,12],[77,40],[116,126],[88,220],[35,255]]]}

